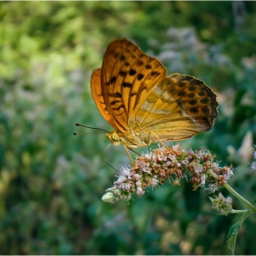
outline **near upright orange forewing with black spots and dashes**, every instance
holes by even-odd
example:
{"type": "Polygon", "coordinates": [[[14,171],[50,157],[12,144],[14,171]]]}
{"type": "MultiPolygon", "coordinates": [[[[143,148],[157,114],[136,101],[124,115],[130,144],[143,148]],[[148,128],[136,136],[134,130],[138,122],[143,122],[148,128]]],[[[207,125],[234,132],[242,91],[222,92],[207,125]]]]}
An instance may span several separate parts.
{"type": "Polygon", "coordinates": [[[134,108],[165,76],[165,67],[132,42],[118,39],[110,44],[101,68],[101,91],[117,130],[127,130],[134,108]]]}

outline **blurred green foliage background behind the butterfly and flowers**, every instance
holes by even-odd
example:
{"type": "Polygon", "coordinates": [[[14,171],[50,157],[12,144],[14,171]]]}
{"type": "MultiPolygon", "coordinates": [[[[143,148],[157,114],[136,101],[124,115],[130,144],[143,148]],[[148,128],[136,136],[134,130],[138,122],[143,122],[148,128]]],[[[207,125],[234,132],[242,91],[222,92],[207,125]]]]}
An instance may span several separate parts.
{"type": "MultiPolygon", "coordinates": [[[[76,122],[112,130],[91,97],[91,72],[108,44],[126,37],[168,73],[193,75],[215,91],[215,126],[181,144],[233,163],[231,185],[251,201],[255,2],[5,1],[0,29],[1,254],[229,253],[229,227],[240,216],[216,215],[207,191],[192,192],[186,181],[148,188],[129,203],[101,201],[116,175],[101,155],[116,169],[129,158],[122,146],[104,153],[104,133],[72,133],[91,133],[76,122]]],[[[255,217],[246,219],[237,254],[255,254],[255,229],[255,217]]]]}

